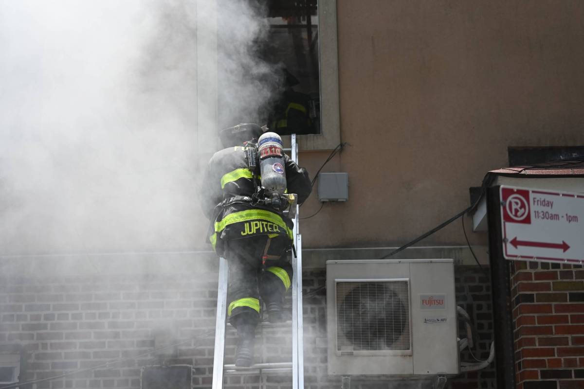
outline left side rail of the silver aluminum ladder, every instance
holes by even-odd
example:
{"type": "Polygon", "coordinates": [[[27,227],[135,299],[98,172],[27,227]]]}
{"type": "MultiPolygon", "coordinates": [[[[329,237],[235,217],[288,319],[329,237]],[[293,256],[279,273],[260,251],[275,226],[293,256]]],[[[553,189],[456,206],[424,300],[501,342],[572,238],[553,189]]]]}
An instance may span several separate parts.
{"type": "Polygon", "coordinates": [[[225,326],[227,324],[227,260],[219,258],[219,286],[217,289],[217,319],[215,320],[215,349],[213,355],[213,389],[223,388],[225,358],[225,326]]]}

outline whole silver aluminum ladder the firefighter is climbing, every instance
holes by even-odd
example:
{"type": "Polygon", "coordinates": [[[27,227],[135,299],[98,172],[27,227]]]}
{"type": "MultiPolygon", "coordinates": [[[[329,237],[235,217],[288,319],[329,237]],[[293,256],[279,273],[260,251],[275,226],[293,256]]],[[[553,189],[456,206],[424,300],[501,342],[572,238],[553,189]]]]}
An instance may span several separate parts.
{"type": "MultiPolygon", "coordinates": [[[[296,134],[291,135],[291,152],[294,162],[298,163],[298,142],[296,134]]],[[[304,388],[304,349],[303,349],[303,309],[302,309],[302,237],[298,233],[298,205],[294,219],[294,247],[292,254],[292,362],[256,363],[251,367],[225,365],[225,326],[227,324],[227,280],[229,271],[227,260],[219,258],[219,288],[217,292],[217,321],[215,323],[215,352],[213,356],[213,389],[223,388],[225,374],[276,374],[292,372],[292,388],[304,388]]]]}

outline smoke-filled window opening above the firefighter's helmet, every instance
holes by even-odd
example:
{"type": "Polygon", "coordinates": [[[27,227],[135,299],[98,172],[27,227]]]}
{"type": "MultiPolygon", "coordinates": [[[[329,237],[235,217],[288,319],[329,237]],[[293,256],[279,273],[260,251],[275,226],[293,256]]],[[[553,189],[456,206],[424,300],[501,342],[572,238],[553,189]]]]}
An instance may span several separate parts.
{"type": "MultiPolygon", "coordinates": [[[[218,0],[218,9],[226,1],[218,0]]],[[[251,62],[234,59],[241,55],[237,29],[218,13],[219,126],[255,122],[280,135],[321,134],[318,0],[247,3],[267,29],[246,51],[251,62]]]]}

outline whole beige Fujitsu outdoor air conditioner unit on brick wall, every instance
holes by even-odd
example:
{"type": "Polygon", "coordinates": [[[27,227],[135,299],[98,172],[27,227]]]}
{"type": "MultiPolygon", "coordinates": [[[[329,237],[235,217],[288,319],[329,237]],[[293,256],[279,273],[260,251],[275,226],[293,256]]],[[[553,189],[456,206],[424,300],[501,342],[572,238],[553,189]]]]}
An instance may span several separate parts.
{"type": "Polygon", "coordinates": [[[458,374],[453,260],[326,261],[329,374],[458,374]]]}

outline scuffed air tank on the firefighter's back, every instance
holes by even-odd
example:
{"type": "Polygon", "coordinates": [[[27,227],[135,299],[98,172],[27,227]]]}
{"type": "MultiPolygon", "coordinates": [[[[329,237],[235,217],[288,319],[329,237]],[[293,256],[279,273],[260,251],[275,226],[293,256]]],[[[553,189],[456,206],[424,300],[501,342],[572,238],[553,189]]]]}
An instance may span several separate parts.
{"type": "Polygon", "coordinates": [[[279,208],[280,197],[286,191],[286,168],[280,135],[275,132],[262,134],[258,140],[258,152],[264,194],[274,208],[279,208]]]}

